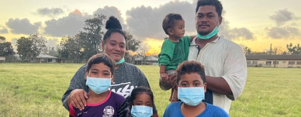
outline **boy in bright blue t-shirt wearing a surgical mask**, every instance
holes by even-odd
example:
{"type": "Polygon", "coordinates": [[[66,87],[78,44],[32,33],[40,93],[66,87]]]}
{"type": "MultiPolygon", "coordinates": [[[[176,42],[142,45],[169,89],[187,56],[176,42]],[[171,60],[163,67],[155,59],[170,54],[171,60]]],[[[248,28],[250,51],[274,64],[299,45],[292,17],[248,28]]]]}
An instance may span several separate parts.
{"type": "Polygon", "coordinates": [[[177,69],[178,99],[168,105],[168,116],[229,116],[222,108],[203,102],[206,92],[204,66],[196,61],[184,61],[177,69]]]}

